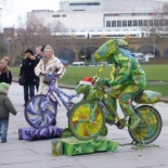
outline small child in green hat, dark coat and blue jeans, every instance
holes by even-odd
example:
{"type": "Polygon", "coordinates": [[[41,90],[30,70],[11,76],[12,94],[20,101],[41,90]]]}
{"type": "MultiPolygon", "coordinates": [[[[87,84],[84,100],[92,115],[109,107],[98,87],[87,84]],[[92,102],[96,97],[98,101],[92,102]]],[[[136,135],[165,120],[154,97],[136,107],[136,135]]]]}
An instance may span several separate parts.
{"type": "Polygon", "coordinates": [[[2,143],[7,142],[10,113],[13,115],[17,113],[8,96],[9,87],[5,82],[0,83],[0,135],[2,143]]]}

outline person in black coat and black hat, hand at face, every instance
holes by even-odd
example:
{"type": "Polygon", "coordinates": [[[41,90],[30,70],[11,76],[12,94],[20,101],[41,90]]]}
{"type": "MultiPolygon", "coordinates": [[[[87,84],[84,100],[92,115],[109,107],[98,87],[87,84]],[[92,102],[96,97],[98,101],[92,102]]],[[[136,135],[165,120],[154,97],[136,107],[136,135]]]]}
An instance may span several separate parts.
{"type": "Polygon", "coordinates": [[[35,66],[36,57],[34,56],[34,52],[30,49],[27,49],[25,52],[25,57],[23,60],[20,76],[24,76],[25,83],[24,83],[24,100],[25,104],[29,101],[31,96],[35,95],[35,82],[36,82],[36,75],[35,75],[35,66]]]}

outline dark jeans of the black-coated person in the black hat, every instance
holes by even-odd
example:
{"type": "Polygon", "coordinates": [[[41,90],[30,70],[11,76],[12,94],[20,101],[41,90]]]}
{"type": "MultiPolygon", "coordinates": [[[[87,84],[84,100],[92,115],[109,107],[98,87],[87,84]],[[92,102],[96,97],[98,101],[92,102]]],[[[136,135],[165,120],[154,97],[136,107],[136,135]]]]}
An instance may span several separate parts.
{"type": "Polygon", "coordinates": [[[30,98],[33,98],[35,95],[35,86],[28,86],[25,85],[24,86],[24,100],[25,100],[25,104],[28,102],[28,100],[30,98]]]}

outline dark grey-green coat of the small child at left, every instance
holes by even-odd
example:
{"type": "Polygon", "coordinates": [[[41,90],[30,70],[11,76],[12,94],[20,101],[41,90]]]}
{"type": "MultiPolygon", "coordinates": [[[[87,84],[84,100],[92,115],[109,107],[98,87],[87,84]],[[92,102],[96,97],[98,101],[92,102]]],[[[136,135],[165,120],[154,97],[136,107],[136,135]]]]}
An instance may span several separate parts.
{"type": "Polygon", "coordinates": [[[0,119],[8,119],[10,117],[10,113],[13,115],[17,114],[8,95],[0,91],[0,119]]]}

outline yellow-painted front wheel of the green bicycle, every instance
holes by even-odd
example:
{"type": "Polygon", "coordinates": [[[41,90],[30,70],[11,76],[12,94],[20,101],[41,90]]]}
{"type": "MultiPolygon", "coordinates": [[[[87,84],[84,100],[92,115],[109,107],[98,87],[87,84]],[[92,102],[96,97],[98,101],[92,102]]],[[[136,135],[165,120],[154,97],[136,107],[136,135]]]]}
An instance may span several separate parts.
{"type": "Polygon", "coordinates": [[[81,101],[70,109],[68,126],[79,140],[95,139],[105,127],[102,107],[96,101],[81,101]]]}

